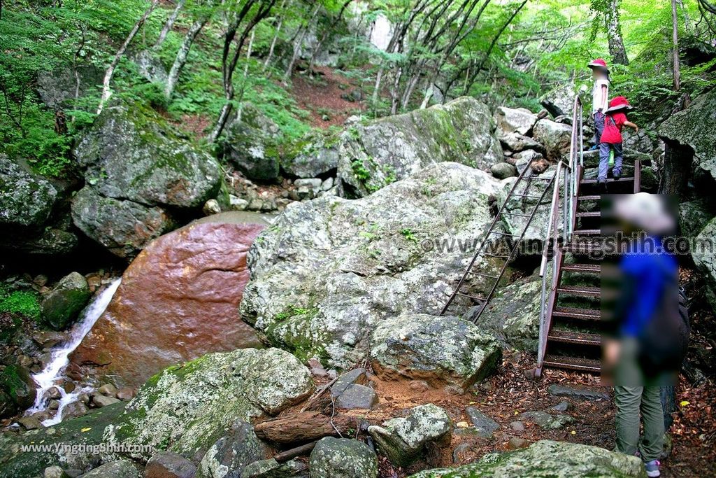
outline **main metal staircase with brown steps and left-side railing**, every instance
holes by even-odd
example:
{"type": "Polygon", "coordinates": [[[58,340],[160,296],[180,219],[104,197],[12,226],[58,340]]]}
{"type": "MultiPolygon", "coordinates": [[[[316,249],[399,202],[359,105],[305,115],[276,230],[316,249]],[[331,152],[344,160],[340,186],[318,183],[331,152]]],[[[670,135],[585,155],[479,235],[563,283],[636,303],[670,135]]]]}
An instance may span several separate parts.
{"type": "MultiPolygon", "coordinates": [[[[544,242],[539,341],[536,376],[544,367],[601,371],[601,248],[600,195],[596,179],[584,178],[582,104],[574,101],[571,150],[560,163],[566,181],[554,187],[544,242]],[[561,234],[558,224],[563,224],[561,234]],[[551,261],[550,261],[551,259],[551,261]],[[551,264],[551,271],[548,270],[551,264]]],[[[609,193],[637,193],[641,164],[634,176],[608,179],[609,193]]]]}

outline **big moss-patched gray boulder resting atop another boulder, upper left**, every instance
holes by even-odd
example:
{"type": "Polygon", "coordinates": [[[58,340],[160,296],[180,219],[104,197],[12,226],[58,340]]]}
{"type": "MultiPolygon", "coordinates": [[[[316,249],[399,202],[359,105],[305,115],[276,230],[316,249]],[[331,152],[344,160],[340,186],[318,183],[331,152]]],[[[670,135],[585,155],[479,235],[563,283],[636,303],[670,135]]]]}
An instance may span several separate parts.
{"type": "Polygon", "coordinates": [[[216,160],[136,103],[106,107],[74,150],[84,180],[107,198],[200,208],[216,195],[216,160]]]}

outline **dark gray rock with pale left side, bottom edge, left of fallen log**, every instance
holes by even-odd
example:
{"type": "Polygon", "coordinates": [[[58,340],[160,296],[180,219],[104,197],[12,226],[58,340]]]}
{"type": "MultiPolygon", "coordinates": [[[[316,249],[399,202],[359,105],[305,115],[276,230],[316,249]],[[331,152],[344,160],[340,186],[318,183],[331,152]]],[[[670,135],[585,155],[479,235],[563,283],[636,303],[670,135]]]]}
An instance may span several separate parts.
{"type": "Polygon", "coordinates": [[[208,449],[199,463],[196,477],[238,477],[246,465],[265,459],[267,451],[253,432],[253,426],[236,421],[228,436],[222,436],[208,449]]]}

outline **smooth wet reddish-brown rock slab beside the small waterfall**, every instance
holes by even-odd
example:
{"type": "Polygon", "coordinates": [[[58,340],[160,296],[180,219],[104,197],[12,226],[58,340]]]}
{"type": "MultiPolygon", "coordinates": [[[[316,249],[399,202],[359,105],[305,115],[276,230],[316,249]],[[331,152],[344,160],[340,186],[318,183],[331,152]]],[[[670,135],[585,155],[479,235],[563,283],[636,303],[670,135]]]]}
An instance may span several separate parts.
{"type": "Polygon", "coordinates": [[[160,236],[132,261],[73,363],[100,365],[100,374],[140,386],[168,365],[260,346],[238,305],[246,253],[264,224],[231,214],[212,219],[160,236]]]}

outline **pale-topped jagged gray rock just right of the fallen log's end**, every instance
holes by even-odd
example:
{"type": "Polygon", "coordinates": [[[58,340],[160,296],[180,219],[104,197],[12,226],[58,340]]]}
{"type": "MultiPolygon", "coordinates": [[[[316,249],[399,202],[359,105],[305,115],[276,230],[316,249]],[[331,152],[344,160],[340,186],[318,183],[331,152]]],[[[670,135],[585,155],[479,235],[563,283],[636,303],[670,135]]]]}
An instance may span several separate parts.
{"type": "Polygon", "coordinates": [[[390,419],[368,427],[378,449],[392,464],[407,467],[425,453],[429,443],[450,440],[450,417],[432,403],[416,406],[407,418],[390,419]]]}

